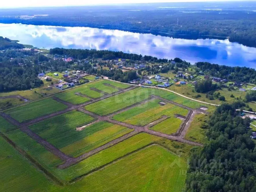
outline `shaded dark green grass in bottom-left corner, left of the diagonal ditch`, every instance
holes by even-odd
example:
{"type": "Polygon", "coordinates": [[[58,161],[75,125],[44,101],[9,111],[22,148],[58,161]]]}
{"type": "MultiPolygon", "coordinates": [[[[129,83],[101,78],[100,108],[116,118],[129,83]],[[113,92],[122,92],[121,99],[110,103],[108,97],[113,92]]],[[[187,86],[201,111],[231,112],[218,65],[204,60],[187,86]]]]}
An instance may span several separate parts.
{"type": "Polygon", "coordinates": [[[46,177],[0,136],[0,191],[47,191],[46,177]]]}

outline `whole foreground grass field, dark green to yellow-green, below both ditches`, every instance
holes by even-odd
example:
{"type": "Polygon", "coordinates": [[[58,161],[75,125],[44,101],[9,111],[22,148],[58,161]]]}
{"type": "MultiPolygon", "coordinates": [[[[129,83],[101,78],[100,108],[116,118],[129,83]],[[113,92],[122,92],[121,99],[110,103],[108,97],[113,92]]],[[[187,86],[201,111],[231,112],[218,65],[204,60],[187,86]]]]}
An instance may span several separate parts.
{"type": "Polygon", "coordinates": [[[184,158],[157,145],[62,187],[49,181],[1,137],[0,144],[1,191],[181,191],[185,183],[184,158]]]}

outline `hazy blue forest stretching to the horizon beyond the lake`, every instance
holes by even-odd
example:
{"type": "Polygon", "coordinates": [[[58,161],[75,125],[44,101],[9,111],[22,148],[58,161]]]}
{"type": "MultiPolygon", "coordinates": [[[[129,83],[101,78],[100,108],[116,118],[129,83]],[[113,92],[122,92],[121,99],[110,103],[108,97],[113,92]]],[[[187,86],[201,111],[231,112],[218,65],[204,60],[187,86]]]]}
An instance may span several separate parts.
{"type": "Polygon", "coordinates": [[[1,10],[1,23],[86,26],[151,33],[177,38],[229,37],[231,42],[256,47],[255,2],[166,3],[129,6],[58,7],[1,10]],[[166,8],[161,8],[166,7],[166,8]],[[170,7],[170,8],[168,8],[170,7]],[[174,7],[174,8],[172,8],[174,7]],[[206,9],[207,7],[207,9],[206,9]],[[244,9],[243,7],[247,7],[244,9]],[[139,11],[133,11],[139,10],[139,11]],[[29,19],[20,15],[36,16],[29,19]]]}

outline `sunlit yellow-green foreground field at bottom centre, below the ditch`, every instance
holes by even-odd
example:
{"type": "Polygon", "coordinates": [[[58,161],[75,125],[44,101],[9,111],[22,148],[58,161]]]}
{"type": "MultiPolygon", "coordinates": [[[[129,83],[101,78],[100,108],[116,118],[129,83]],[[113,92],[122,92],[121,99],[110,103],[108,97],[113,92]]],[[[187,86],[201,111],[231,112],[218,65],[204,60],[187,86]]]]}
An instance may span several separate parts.
{"type": "MultiPolygon", "coordinates": [[[[74,183],[81,191],[182,191],[186,161],[152,145],[74,183]],[[179,162],[176,164],[175,162],[179,162]]],[[[74,190],[71,186],[67,186],[74,190]]]]}

